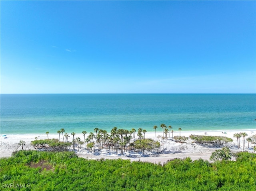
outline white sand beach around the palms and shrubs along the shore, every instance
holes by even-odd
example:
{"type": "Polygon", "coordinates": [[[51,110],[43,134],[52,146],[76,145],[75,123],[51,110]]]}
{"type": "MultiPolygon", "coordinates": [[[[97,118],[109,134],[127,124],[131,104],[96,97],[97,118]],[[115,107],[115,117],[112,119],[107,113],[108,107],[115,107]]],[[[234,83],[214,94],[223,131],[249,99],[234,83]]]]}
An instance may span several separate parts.
{"type": "MultiPolygon", "coordinates": [[[[181,131],[181,136],[190,136],[191,134],[194,135],[209,135],[209,136],[226,136],[233,139],[232,143],[229,143],[227,146],[230,148],[232,152],[238,152],[242,151],[242,137],[240,138],[240,145],[241,148],[237,148],[237,140],[234,138],[235,133],[240,132],[246,132],[248,136],[246,138],[256,134],[255,130],[228,130],[228,131],[181,131]]],[[[88,135],[87,133],[86,135],[88,135]]],[[[156,132],[156,136],[161,135],[162,132],[156,132]]],[[[178,136],[179,132],[174,132],[174,136],[178,136]]],[[[59,139],[59,135],[56,134],[48,134],[49,138],[57,138],[59,139]]],[[[176,143],[172,141],[172,134],[170,135],[170,138],[168,139],[162,139],[162,138],[156,138],[155,132],[146,132],[146,138],[152,138],[154,140],[159,140],[161,145],[161,152],[158,154],[152,154],[149,152],[144,152],[144,156],[142,155],[142,152],[124,152],[123,155],[121,154],[112,154],[108,153],[107,150],[102,150],[98,152],[96,150],[95,153],[89,152],[88,150],[84,149],[84,146],[82,146],[82,149],[79,149],[79,151],[76,150],[76,153],[79,157],[88,158],[88,159],[130,159],[131,161],[148,161],[152,163],[164,163],[168,159],[174,159],[174,158],[186,158],[190,157],[192,160],[196,160],[199,158],[207,159],[209,160],[212,152],[214,152],[216,149],[220,149],[220,147],[215,146],[203,146],[200,144],[193,143],[192,140],[188,140],[187,143],[176,143]]],[[[30,142],[32,140],[35,140],[35,137],[38,137],[38,140],[40,139],[47,139],[46,134],[28,134],[28,135],[7,135],[8,138],[4,138],[2,135],[0,137],[0,157],[10,157],[12,152],[21,150],[21,146],[18,144],[20,140],[23,140],[26,142],[25,146],[23,146],[24,150],[34,150],[34,147],[30,145],[30,142]]],[[[81,134],[76,134],[76,137],[80,137],[81,140],[84,140],[84,136],[81,134]]],[[[138,138],[136,136],[136,138],[138,138]]],[[[62,136],[60,136],[60,140],[62,140],[62,136]]],[[[72,138],[70,136],[69,141],[71,141],[72,138]]],[[[254,144],[250,143],[250,148],[248,149],[248,142],[246,141],[246,145],[244,150],[253,152],[254,144]]]]}

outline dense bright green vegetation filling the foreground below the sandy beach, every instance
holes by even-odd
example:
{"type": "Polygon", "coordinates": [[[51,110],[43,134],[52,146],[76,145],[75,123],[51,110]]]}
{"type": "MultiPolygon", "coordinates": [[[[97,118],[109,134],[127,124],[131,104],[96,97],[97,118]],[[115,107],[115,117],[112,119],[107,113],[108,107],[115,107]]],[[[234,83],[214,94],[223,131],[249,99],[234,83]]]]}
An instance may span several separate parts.
{"type": "Polygon", "coordinates": [[[240,152],[236,161],[190,158],[164,165],[130,160],[88,160],[74,152],[21,150],[0,159],[1,190],[33,191],[255,191],[256,154],[240,152]],[[13,183],[23,188],[4,188],[13,183]]]}

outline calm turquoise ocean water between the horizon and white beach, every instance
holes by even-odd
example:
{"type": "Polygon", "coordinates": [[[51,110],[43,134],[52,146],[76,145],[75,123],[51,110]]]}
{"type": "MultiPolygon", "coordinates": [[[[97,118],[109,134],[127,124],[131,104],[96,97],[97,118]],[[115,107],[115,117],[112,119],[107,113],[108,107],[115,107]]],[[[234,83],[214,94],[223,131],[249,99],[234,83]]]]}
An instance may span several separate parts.
{"type": "Polygon", "coordinates": [[[2,94],[1,134],[256,130],[256,94],[2,94]]]}

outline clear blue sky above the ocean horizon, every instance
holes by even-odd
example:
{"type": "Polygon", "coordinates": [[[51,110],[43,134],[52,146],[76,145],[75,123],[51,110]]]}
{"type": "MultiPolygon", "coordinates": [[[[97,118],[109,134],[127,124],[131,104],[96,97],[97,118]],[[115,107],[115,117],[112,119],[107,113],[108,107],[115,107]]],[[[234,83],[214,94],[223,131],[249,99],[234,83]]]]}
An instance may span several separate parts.
{"type": "Polygon", "coordinates": [[[1,93],[256,93],[255,1],[1,1],[1,93]]]}

